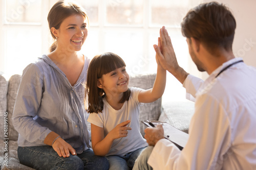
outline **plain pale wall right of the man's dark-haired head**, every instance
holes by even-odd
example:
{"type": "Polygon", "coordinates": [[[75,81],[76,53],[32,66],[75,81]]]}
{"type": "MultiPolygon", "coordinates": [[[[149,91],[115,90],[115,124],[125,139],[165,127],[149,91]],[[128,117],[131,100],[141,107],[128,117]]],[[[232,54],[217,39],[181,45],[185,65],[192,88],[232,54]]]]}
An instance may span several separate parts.
{"type": "MultiPolygon", "coordinates": [[[[208,3],[211,1],[204,0],[208,3]]],[[[232,11],[237,21],[234,35],[233,53],[242,57],[247,65],[256,67],[256,1],[255,0],[217,0],[232,11]]]]}

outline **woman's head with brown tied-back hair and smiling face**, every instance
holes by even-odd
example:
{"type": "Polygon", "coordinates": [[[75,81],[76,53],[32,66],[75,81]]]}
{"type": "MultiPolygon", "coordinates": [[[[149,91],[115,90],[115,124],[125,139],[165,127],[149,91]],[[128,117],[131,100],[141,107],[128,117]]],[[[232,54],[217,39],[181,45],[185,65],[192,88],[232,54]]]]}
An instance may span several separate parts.
{"type": "MultiPolygon", "coordinates": [[[[77,8],[75,4],[71,7],[74,9],[77,8]]],[[[51,30],[51,35],[53,39],[56,40],[50,48],[51,52],[55,50],[57,43],[59,43],[58,46],[60,49],[68,46],[69,50],[72,50],[73,48],[76,49],[75,51],[81,50],[81,45],[86,40],[88,33],[86,26],[89,19],[85,11],[77,11],[74,13],[68,10],[67,4],[62,3],[62,6],[53,6],[47,19],[49,22],[49,28],[51,30]],[[63,10],[58,10],[60,8],[63,10]],[[71,41],[75,45],[80,45],[80,48],[79,46],[70,46],[72,43],[68,44],[67,41],[71,41]]]]}

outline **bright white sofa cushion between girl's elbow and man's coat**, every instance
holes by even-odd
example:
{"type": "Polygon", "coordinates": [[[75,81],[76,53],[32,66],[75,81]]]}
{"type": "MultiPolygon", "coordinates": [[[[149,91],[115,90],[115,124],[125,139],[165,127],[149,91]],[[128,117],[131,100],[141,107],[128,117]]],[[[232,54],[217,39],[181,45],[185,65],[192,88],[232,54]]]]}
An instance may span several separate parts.
{"type": "Polygon", "coordinates": [[[195,103],[190,101],[170,102],[162,104],[162,107],[163,112],[159,117],[159,121],[166,122],[188,133],[189,123],[195,110],[195,103]]]}

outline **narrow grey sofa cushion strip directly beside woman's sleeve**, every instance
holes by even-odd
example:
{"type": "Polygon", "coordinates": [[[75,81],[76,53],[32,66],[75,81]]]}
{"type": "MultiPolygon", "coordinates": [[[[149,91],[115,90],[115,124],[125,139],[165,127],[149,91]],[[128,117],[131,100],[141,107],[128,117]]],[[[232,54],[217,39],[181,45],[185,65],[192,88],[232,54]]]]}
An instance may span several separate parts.
{"type": "Polygon", "coordinates": [[[18,92],[18,87],[20,80],[22,79],[22,76],[20,75],[13,75],[9,79],[8,83],[8,92],[7,92],[7,112],[8,112],[8,137],[10,140],[18,140],[18,132],[14,129],[12,125],[12,114],[13,114],[13,108],[18,92]]]}

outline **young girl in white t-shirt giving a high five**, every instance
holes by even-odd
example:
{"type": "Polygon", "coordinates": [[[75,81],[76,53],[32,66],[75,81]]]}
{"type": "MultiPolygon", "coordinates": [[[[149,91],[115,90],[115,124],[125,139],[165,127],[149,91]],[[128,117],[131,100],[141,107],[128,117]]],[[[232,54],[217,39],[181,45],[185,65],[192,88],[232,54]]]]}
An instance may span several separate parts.
{"type": "Polygon", "coordinates": [[[139,107],[159,99],[166,82],[166,70],[158,64],[152,89],[129,88],[125,66],[116,54],[104,53],[92,59],[87,74],[92,147],[96,155],[106,156],[110,169],[133,168],[147,146],[140,133],[139,107]]]}

